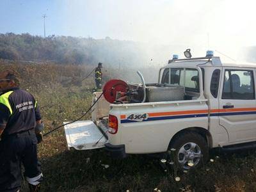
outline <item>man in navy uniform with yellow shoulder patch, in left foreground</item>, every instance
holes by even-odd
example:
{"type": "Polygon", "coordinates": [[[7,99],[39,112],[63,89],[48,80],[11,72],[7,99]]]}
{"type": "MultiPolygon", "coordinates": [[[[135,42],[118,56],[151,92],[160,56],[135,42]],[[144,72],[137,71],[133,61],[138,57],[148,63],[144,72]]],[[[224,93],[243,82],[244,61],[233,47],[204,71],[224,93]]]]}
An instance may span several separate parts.
{"type": "Polygon", "coordinates": [[[19,191],[24,177],[30,191],[39,191],[43,179],[36,144],[42,141],[38,104],[33,95],[19,88],[11,70],[0,73],[0,191],[19,191]]]}

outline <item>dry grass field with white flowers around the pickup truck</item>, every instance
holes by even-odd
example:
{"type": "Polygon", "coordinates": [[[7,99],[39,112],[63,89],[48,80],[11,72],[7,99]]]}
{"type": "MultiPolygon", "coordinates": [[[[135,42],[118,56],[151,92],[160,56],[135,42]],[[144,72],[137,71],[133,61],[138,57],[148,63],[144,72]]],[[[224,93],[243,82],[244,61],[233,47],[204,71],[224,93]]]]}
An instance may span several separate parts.
{"type": "MultiPolygon", "coordinates": [[[[21,87],[40,104],[45,132],[81,116],[91,104],[93,78],[79,80],[92,68],[60,65],[0,64],[13,68],[22,77],[21,87]],[[70,84],[74,86],[70,87],[70,84]]],[[[106,74],[109,79],[115,74],[106,74]]],[[[90,118],[86,115],[84,119],[90,118]]],[[[67,150],[63,128],[38,145],[44,182],[42,191],[256,191],[256,154],[211,154],[213,162],[200,170],[164,172],[159,159],[129,156],[111,159],[104,149],[67,150]],[[180,177],[176,181],[175,177],[180,177]],[[156,189],[157,188],[157,189],[156,189]]],[[[22,186],[26,191],[26,183],[22,186]]]]}

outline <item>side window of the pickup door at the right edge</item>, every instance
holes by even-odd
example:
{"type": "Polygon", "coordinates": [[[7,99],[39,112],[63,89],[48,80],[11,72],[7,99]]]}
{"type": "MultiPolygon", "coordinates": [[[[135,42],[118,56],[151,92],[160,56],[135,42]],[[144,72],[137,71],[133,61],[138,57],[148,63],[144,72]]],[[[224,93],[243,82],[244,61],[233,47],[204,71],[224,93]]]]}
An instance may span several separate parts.
{"type": "Polygon", "coordinates": [[[255,99],[252,70],[225,70],[222,99],[255,99]]]}

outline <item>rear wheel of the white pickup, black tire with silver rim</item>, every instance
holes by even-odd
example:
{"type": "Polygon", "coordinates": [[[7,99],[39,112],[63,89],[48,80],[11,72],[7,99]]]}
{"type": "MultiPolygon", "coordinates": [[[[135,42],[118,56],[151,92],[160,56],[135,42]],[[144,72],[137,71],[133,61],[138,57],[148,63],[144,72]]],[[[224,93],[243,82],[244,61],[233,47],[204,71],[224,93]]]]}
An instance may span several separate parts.
{"type": "Polygon", "coordinates": [[[209,147],[205,138],[196,132],[179,134],[168,147],[168,159],[180,170],[199,168],[209,159],[209,147]],[[191,150],[194,147],[193,150],[191,150]],[[175,149],[175,150],[173,150],[175,149]],[[188,159],[190,159],[187,163],[188,159]],[[193,159],[193,160],[191,160],[193,159]]]}

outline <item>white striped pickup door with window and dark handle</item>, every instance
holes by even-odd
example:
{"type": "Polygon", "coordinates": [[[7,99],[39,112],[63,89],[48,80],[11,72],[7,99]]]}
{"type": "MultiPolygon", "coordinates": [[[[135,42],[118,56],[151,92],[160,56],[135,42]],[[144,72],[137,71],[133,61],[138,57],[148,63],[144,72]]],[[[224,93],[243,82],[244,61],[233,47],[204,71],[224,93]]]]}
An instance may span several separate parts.
{"type": "Polygon", "coordinates": [[[256,139],[254,77],[253,69],[223,67],[218,115],[229,143],[256,139]]]}

